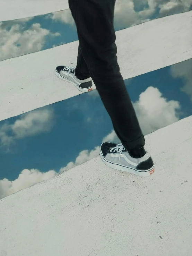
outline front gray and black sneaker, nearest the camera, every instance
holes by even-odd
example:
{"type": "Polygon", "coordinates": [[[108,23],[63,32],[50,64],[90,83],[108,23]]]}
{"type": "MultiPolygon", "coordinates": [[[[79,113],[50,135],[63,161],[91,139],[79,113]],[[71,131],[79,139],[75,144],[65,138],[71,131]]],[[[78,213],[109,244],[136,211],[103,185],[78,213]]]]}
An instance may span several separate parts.
{"type": "Polygon", "coordinates": [[[143,157],[133,158],[122,144],[104,142],[99,153],[103,162],[116,170],[130,172],[142,177],[150,176],[155,171],[154,163],[147,152],[143,157]]]}

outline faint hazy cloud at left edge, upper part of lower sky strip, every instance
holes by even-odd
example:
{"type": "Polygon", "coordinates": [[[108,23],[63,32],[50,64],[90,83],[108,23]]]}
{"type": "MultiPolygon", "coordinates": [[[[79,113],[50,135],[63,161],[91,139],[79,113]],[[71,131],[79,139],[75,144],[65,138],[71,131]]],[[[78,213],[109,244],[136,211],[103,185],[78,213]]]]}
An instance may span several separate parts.
{"type": "Polygon", "coordinates": [[[9,150],[16,139],[50,131],[53,125],[54,113],[52,109],[37,109],[23,114],[13,124],[5,123],[0,127],[1,147],[9,150]]]}

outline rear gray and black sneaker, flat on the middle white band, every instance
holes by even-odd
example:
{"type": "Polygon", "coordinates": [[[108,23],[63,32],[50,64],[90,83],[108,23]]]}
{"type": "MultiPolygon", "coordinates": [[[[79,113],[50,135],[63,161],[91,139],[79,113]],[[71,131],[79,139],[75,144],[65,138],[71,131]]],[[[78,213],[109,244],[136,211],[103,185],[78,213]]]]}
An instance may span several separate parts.
{"type": "Polygon", "coordinates": [[[76,66],[58,66],[55,68],[55,74],[59,78],[74,84],[81,92],[93,90],[91,77],[79,80],[75,75],[75,68],[76,66]]]}

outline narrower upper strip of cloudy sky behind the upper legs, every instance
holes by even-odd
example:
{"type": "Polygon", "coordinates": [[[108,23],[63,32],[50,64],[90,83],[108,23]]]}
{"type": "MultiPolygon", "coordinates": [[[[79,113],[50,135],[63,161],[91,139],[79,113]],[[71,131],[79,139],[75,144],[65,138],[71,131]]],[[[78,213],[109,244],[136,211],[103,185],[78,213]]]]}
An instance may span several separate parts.
{"type": "MultiPolygon", "coordinates": [[[[148,20],[192,10],[192,0],[117,0],[115,31],[148,20]]],[[[0,60],[78,40],[71,11],[0,23],[0,60]]]]}

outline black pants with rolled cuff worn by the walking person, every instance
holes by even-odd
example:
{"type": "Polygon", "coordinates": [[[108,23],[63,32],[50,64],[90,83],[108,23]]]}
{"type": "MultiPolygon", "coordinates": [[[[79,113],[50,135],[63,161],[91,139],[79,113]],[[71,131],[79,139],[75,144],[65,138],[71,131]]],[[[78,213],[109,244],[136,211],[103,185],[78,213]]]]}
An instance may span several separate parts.
{"type": "Polygon", "coordinates": [[[124,147],[143,147],[145,139],[117,63],[115,0],[69,0],[69,7],[79,38],[77,78],[91,76],[124,147]]]}

